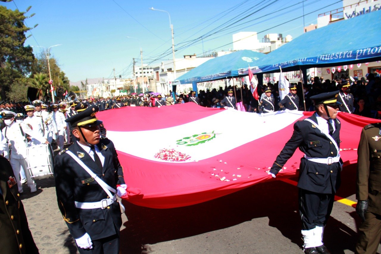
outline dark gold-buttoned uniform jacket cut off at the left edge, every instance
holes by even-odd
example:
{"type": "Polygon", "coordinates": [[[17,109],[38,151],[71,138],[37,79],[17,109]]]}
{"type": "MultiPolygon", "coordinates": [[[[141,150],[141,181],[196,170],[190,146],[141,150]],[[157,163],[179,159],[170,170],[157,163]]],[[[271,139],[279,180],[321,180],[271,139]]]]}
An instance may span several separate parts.
{"type": "Polygon", "coordinates": [[[0,246],[1,253],[38,253],[28,227],[11,164],[0,156],[0,246]],[[8,185],[10,177],[14,182],[8,185]]]}

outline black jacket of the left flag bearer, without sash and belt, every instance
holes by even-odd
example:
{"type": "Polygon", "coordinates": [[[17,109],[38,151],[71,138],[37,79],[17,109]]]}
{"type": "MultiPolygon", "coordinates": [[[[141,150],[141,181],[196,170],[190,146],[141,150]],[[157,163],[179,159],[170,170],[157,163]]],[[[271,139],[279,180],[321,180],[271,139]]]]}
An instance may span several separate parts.
{"type": "MultiPolygon", "coordinates": [[[[102,172],[91,156],[77,142],[74,142],[68,150],[78,156],[105,183],[116,189],[117,184],[124,184],[125,182],[123,169],[120,166],[114,144],[106,138],[101,139],[97,146],[104,156],[102,172]]],[[[55,158],[54,178],[56,180],[58,206],[74,239],[83,236],[85,233],[88,233],[93,240],[119,233],[122,219],[118,202],[115,201],[106,209],[75,207],[74,201],[97,202],[107,198],[107,194],[85,169],[66,153],[66,150],[55,158]]]]}

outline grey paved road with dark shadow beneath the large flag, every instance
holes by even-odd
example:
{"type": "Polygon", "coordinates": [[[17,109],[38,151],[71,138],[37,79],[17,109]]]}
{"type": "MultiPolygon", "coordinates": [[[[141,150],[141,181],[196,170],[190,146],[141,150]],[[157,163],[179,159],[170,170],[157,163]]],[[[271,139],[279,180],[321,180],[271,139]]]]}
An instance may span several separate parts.
{"type": "MultiPolygon", "coordinates": [[[[342,176],[337,195],[356,201],[355,166],[342,176]]],[[[36,183],[35,193],[24,185],[22,202],[40,253],[76,253],[58,210],[54,179],[36,183]]],[[[121,253],[303,253],[297,196],[296,186],[277,177],[187,207],[151,209],[123,201],[121,253]]],[[[359,223],[354,207],[335,202],[324,233],[331,253],[354,253],[359,223]]]]}

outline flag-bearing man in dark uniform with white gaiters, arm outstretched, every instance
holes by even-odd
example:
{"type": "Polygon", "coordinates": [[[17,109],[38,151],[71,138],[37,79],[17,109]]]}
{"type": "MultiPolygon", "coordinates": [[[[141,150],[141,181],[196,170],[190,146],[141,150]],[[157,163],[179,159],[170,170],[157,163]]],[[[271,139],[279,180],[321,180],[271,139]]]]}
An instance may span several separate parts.
{"type": "Polygon", "coordinates": [[[299,214],[304,252],[330,253],[323,245],[323,229],[330,217],[335,193],[340,186],[342,161],[339,154],[340,122],[336,119],[339,91],[311,96],[316,112],[294,124],[294,132],[272,165],[272,177],[296,148],[304,153],[299,172],[299,214]]]}

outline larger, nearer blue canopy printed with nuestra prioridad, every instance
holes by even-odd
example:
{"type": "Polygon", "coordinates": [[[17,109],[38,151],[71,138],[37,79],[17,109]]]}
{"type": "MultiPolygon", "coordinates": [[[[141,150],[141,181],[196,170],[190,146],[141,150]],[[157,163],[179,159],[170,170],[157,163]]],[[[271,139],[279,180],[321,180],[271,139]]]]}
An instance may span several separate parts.
{"type": "Polygon", "coordinates": [[[306,71],[380,60],[380,22],[381,11],[373,11],[302,34],[257,61],[258,69],[253,73],[279,72],[279,67],[282,71],[306,71]]]}

